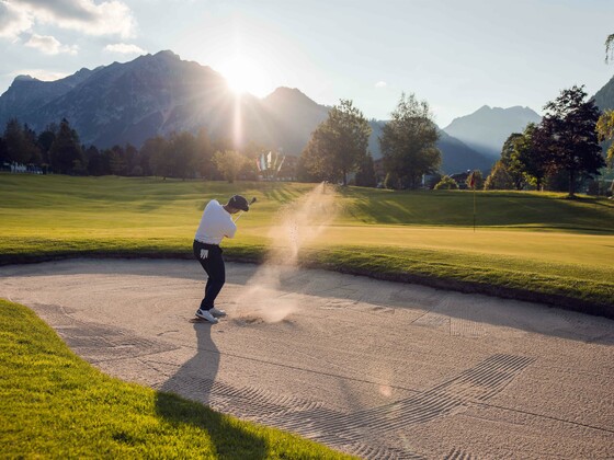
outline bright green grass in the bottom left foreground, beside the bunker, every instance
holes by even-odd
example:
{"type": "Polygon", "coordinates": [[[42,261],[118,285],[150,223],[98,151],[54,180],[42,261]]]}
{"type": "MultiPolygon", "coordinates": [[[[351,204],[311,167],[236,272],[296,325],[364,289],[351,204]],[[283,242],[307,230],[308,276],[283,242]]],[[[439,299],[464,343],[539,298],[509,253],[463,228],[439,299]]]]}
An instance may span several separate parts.
{"type": "Polygon", "coordinates": [[[0,300],[2,458],[350,458],[107,377],[27,308],[0,300]]]}

